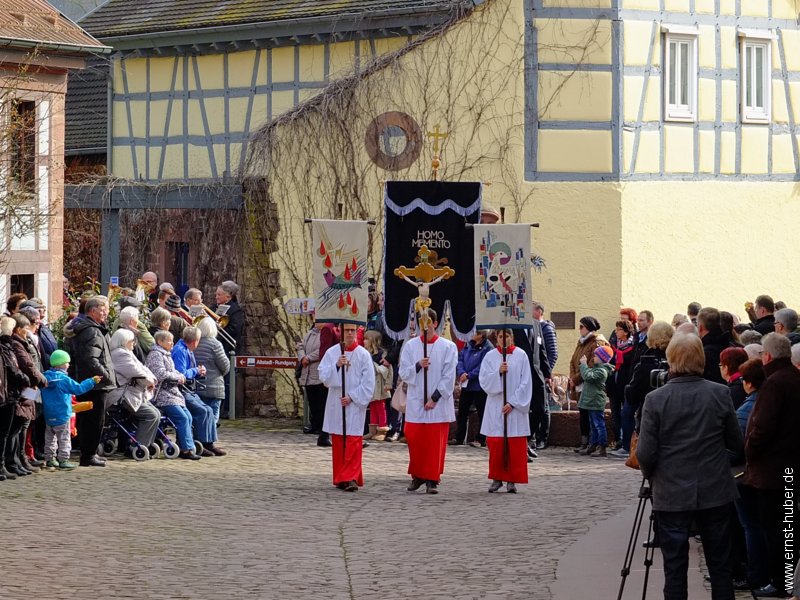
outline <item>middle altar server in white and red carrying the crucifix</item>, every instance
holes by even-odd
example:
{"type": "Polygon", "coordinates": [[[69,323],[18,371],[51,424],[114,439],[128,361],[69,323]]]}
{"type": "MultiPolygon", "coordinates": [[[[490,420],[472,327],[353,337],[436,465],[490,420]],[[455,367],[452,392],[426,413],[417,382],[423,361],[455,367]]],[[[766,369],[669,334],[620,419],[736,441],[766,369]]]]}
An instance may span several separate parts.
{"type": "Polygon", "coordinates": [[[455,421],[453,387],[456,380],[458,350],[450,340],[439,337],[436,311],[427,309],[427,358],[423,357],[422,336],[403,345],[398,369],[408,384],[406,418],[403,429],[408,441],[408,473],[413,492],[425,484],[425,491],[437,494],[444,472],[450,423],[455,421]],[[428,397],[424,397],[424,377],[428,376],[428,397]]]}

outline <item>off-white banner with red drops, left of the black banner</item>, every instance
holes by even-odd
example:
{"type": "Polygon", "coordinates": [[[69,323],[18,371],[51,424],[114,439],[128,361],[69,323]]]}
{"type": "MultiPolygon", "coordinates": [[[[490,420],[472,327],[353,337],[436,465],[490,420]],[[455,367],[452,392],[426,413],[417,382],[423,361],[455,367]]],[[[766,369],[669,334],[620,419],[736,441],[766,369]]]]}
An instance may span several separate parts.
{"type": "Polygon", "coordinates": [[[321,323],[367,322],[366,221],[311,222],[315,319],[321,323]]]}

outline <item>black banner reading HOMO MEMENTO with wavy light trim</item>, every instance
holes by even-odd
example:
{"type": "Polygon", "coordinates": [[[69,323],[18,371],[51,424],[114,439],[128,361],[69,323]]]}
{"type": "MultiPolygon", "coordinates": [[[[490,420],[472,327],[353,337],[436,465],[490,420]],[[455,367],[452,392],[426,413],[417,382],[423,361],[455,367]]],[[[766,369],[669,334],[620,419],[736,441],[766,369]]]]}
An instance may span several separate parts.
{"type": "Polygon", "coordinates": [[[445,307],[450,310],[452,327],[465,337],[475,325],[473,236],[467,223],[477,223],[481,213],[480,183],[441,181],[390,181],[386,184],[386,232],[384,252],[384,321],[393,337],[407,337],[413,300],[418,289],[395,274],[428,261],[433,272],[447,267],[452,277],[430,286],[431,308],[440,321],[445,307]],[[430,255],[418,255],[422,246],[430,255]]]}

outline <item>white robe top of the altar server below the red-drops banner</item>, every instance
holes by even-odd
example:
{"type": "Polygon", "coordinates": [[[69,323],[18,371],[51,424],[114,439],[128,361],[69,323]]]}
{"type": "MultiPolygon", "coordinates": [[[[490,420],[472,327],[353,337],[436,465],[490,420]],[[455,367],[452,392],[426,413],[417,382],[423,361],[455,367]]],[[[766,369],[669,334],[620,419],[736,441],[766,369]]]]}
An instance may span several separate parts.
{"type": "Polygon", "coordinates": [[[345,393],[342,393],[342,372],[336,368],[336,361],[342,355],[339,344],[331,346],[319,363],[319,378],[328,388],[325,403],[323,431],[342,435],[342,396],[350,396],[352,402],[345,408],[347,432],[345,435],[364,435],[364,420],[367,407],[375,389],[375,369],[372,357],[364,348],[356,346],[352,352],[345,352],[350,366],[345,371],[345,393]]]}

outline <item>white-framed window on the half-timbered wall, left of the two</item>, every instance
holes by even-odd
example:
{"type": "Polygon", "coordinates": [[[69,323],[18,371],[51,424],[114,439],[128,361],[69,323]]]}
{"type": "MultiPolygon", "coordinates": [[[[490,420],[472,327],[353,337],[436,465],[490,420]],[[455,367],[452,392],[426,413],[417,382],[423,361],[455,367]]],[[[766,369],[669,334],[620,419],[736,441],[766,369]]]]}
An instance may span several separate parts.
{"type": "Polygon", "coordinates": [[[664,120],[697,120],[697,28],[662,24],[664,120]]]}

